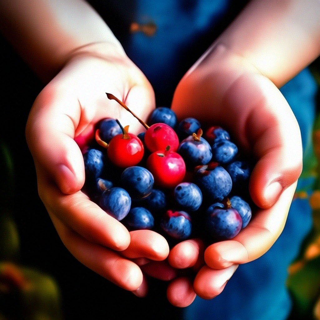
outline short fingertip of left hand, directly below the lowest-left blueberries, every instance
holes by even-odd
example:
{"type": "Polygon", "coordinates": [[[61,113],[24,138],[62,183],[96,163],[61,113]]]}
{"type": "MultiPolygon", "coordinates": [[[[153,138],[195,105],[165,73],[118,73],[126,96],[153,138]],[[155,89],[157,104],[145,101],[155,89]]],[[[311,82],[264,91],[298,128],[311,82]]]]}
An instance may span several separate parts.
{"type": "Polygon", "coordinates": [[[127,249],[121,252],[127,258],[147,258],[161,261],[169,254],[169,244],[165,238],[151,230],[130,232],[131,241],[127,249]]]}

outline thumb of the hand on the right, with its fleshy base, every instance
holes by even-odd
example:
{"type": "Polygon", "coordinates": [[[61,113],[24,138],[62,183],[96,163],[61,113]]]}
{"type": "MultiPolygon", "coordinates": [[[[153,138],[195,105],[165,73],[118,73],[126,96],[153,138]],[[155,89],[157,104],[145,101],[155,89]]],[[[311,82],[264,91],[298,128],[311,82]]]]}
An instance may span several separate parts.
{"type": "Polygon", "coordinates": [[[266,77],[240,77],[229,89],[226,104],[244,110],[237,121],[237,136],[252,151],[257,163],[249,191],[261,208],[271,207],[302,171],[302,144],[298,122],[281,92],[266,77]],[[240,132],[243,132],[242,134],[240,132]]]}

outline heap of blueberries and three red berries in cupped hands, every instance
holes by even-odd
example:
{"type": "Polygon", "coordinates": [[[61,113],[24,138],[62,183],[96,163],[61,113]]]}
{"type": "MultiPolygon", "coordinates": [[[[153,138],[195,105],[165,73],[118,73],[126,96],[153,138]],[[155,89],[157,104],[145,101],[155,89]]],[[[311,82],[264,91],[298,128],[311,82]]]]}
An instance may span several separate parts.
{"type": "Polygon", "coordinates": [[[213,243],[247,226],[251,166],[227,131],[212,126],[202,137],[198,120],[178,124],[165,107],[152,112],[150,126],[139,121],[147,131],[138,136],[115,119],[97,125],[84,153],[83,190],[92,201],[129,230],[152,229],[168,240],[213,243]]]}

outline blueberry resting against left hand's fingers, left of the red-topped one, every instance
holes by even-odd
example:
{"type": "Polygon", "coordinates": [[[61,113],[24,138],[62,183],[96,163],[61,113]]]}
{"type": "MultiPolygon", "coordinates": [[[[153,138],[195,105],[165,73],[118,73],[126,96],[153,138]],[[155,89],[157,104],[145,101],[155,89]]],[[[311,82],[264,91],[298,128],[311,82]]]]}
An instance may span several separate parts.
{"type": "Polygon", "coordinates": [[[136,207],[129,211],[122,223],[130,230],[151,230],[154,225],[154,218],[149,210],[136,207]]]}

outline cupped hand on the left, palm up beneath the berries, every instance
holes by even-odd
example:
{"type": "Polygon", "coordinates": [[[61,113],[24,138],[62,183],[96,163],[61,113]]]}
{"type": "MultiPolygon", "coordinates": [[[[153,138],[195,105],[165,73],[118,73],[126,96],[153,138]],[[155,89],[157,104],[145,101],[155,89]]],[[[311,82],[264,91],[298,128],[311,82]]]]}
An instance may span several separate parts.
{"type": "Polygon", "coordinates": [[[145,119],[155,107],[154,92],[141,71],[122,53],[98,55],[80,50],[37,97],[27,123],[28,146],[35,161],[39,195],[68,250],[84,265],[120,287],[134,291],[140,268],[123,255],[164,260],[165,239],[153,231],[130,234],[80,191],[84,161],[74,138],[112,117],[130,132],[142,126],[105,92],[121,98],[145,119]],[[130,244],[130,245],[129,245],[130,244]],[[129,247],[128,247],[129,246],[129,247]]]}

